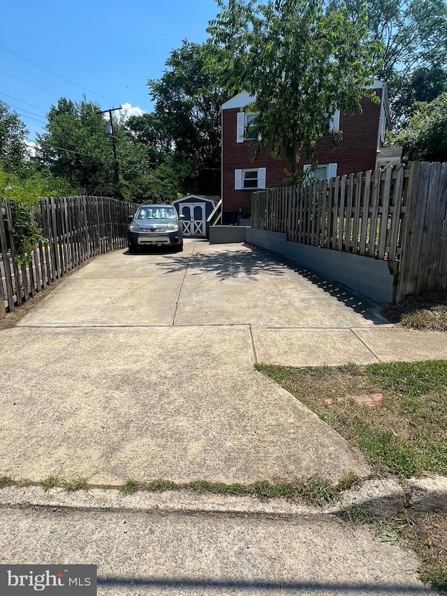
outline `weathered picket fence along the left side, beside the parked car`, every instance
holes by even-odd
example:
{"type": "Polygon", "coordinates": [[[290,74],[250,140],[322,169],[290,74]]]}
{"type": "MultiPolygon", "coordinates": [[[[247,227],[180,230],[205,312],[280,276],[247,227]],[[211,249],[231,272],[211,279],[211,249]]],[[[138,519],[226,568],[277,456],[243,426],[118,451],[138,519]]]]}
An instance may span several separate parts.
{"type": "Polygon", "coordinates": [[[0,210],[0,319],[92,256],[126,247],[128,216],[138,206],[98,196],[39,201],[33,217],[45,240],[24,266],[15,261],[13,216],[5,199],[0,210]]]}

